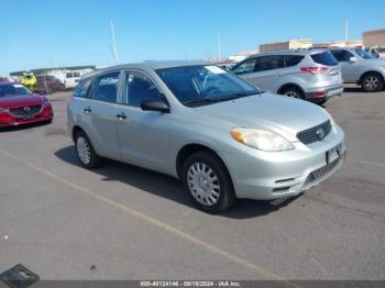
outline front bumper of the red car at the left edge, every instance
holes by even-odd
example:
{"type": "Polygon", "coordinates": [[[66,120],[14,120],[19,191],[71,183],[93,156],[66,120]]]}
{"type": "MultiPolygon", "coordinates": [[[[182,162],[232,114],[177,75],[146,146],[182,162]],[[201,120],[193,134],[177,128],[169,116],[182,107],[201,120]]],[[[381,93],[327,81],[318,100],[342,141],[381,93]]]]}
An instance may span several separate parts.
{"type": "Polygon", "coordinates": [[[11,113],[0,113],[0,128],[19,126],[37,122],[50,121],[54,118],[52,106],[45,106],[34,114],[32,119],[24,120],[23,117],[12,115],[11,113]]]}

